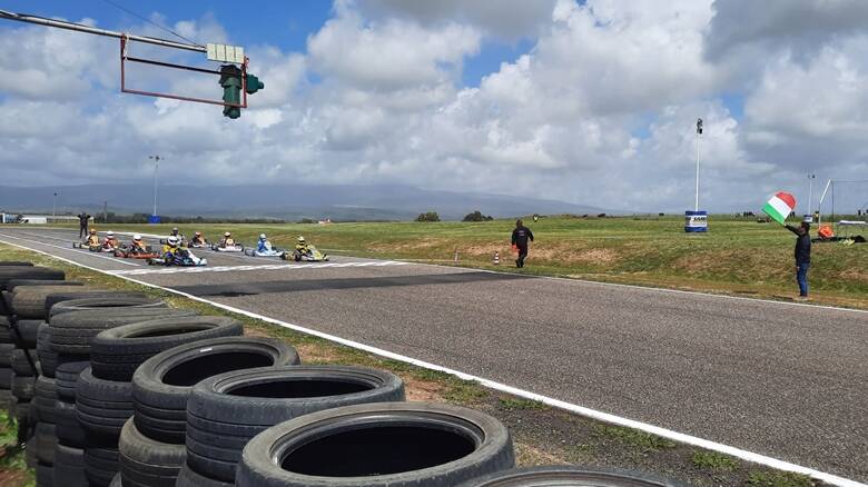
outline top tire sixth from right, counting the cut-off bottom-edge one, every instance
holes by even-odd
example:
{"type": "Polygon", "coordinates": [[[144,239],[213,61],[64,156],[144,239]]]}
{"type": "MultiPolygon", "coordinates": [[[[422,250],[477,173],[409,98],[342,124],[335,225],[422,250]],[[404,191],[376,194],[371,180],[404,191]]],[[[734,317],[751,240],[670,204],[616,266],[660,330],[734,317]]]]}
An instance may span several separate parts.
{"type": "Polygon", "coordinates": [[[196,316],[195,311],[170,308],[115,308],[110,312],[85,309],[56,315],[51,319],[51,349],[59,354],[89,355],[90,340],[100,331],[156,318],[196,316]]]}

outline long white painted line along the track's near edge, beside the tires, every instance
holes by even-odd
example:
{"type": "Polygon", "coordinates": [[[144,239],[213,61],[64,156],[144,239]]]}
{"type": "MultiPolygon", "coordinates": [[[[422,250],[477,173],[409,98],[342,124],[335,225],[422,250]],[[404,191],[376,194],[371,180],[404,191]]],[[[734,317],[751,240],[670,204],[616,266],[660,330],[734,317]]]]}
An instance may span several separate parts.
{"type": "MultiPolygon", "coordinates": [[[[97,268],[90,267],[90,266],[86,266],[83,264],[76,262],[75,260],[66,259],[63,257],[52,256],[51,254],[48,254],[48,252],[42,251],[42,250],[31,249],[31,248],[28,248],[28,247],[24,247],[24,246],[21,246],[21,245],[18,245],[18,244],[12,244],[12,242],[9,242],[9,241],[4,241],[2,239],[0,239],[0,242],[8,244],[8,245],[11,245],[13,247],[19,247],[19,248],[22,248],[22,249],[26,249],[26,250],[31,250],[31,251],[34,251],[34,252],[38,252],[38,254],[42,254],[42,255],[46,255],[48,257],[51,257],[51,258],[55,258],[55,259],[62,260],[65,262],[71,264],[73,266],[79,266],[79,267],[82,267],[85,269],[93,270],[96,272],[111,275],[110,272],[107,272],[105,270],[97,269],[97,268]]],[[[719,443],[711,441],[711,440],[703,439],[703,438],[699,438],[699,437],[696,437],[696,436],[685,435],[683,433],[678,433],[678,431],[674,431],[674,430],[671,430],[671,429],[661,428],[659,426],[649,425],[647,423],[637,421],[637,420],[629,419],[629,418],[623,418],[621,416],[611,415],[609,413],[599,411],[599,410],[595,410],[595,409],[591,409],[591,408],[586,408],[586,407],[583,407],[583,406],[574,405],[572,402],[566,402],[566,401],[563,401],[563,400],[560,400],[560,399],[554,399],[554,398],[551,398],[551,397],[548,397],[548,396],[543,396],[543,395],[540,395],[540,394],[536,394],[536,392],[531,392],[529,390],[519,389],[516,387],[509,386],[509,385],[505,385],[505,384],[502,384],[502,382],[497,382],[497,381],[494,381],[494,380],[490,380],[490,379],[486,379],[484,377],[474,376],[474,375],[471,375],[471,374],[463,372],[461,370],[451,369],[448,367],[438,366],[436,364],[431,364],[431,362],[427,362],[427,361],[424,361],[424,360],[415,359],[413,357],[407,357],[407,356],[404,356],[404,355],[400,355],[400,354],[395,354],[395,352],[392,352],[392,351],[388,351],[388,350],[384,350],[382,348],[372,347],[372,346],[365,345],[365,344],[359,344],[357,341],[348,340],[346,338],[342,338],[342,337],[338,337],[338,336],[335,336],[335,335],[325,334],[323,331],[318,331],[318,330],[315,330],[315,329],[306,328],[306,327],[298,326],[298,325],[293,325],[290,322],[282,321],[282,320],[278,320],[278,319],[275,319],[275,318],[269,318],[267,316],[258,315],[258,314],[255,314],[255,312],[251,312],[251,311],[247,311],[247,310],[244,310],[244,309],[240,309],[240,308],[236,308],[236,307],[233,307],[233,306],[228,306],[228,305],[223,305],[220,302],[216,302],[216,301],[211,301],[211,300],[208,300],[208,299],[205,299],[205,298],[200,298],[198,296],[194,296],[194,295],[190,295],[190,294],[187,294],[187,292],[183,292],[183,291],[179,291],[179,290],[176,290],[176,289],[172,289],[172,288],[167,288],[167,287],[164,287],[164,286],[158,286],[158,285],[154,285],[154,284],[150,284],[150,282],[145,282],[142,280],[132,279],[132,278],[127,277],[127,276],[116,276],[116,277],[119,277],[121,279],[126,279],[126,280],[128,280],[130,282],[135,282],[135,284],[140,285],[140,286],[146,286],[146,287],[150,287],[150,288],[155,288],[155,289],[160,289],[160,290],[164,290],[166,292],[171,292],[171,294],[175,294],[175,295],[178,295],[178,296],[184,296],[185,298],[193,299],[193,300],[199,301],[199,302],[205,302],[205,304],[211,305],[211,306],[214,306],[216,308],[224,309],[226,311],[235,312],[235,314],[243,315],[243,316],[246,316],[246,317],[249,317],[249,318],[254,318],[254,319],[259,319],[259,320],[263,320],[263,321],[266,321],[266,322],[269,322],[269,324],[273,324],[273,325],[277,325],[277,326],[280,326],[280,327],[284,327],[284,328],[289,328],[292,330],[299,331],[299,332],[303,332],[303,334],[313,335],[315,337],[319,337],[319,338],[323,338],[323,339],[326,339],[326,340],[329,340],[329,341],[334,341],[334,342],[337,342],[337,344],[341,344],[341,345],[345,345],[347,347],[352,347],[352,348],[355,348],[355,349],[358,349],[358,350],[364,350],[364,351],[367,351],[369,354],[378,355],[381,357],[385,357],[385,358],[389,358],[389,359],[393,359],[393,360],[403,361],[403,362],[406,362],[406,364],[412,364],[412,365],[415,365],[415,366],[418,366],[418,367],[423,367],[423,368],[426,368],[426,369],[431,369],[431,370],[442,371],[442,372],[450,374],[450,375],[453,375],[455,377],[458,377],[460,379],[463,379],[463,380],[474,380],[474,381],[477,381],[481,385],[483,385],[485,387],[489,387],[491,389],[494,389],[494,390],[500,390],[500,391],[507,392],[507,394],[511,394],[511,395],[514,395],[514,396],[523,397],[525,399],[536,400],[536,401],[543,402],[545,405],[549,405],[549,406],[552,406],[552,407],[555,407],[555,408],[560,408],[560,409],[564,409],[564,410],[568,410],[568,411],[571,411],[571,413],[574,413],[574,414],[578,414],[578,415],[581,415],[581,416],[585,416],[585,417],[589,417],[589,418],[592,418],[592,419],[596,419],[596,420],[600,420],[600,421],[605,421],[605,423],[610,423],[610,424],[613,424],[613,425],[623,426],[623,427],[627,427],[627,428],[639,429],[641,431],[645,431],[645,433],[649,433],[649,434],[652,434],[652,435],[657,435],[657,436],[660,436],[660,437],[663,437],[663,438],[668,438],[668,439],[671,439],[673,441],[679,441],[679,443],[683,443],[683,444],[687,444],[687,445],[693,445],[693,446],[697,446],[697,447],[700,447],[700,448],[704,448],[704,449],[708,449],[708,450],[712,450],[712,451],[718,451],[718,453],[721,453],[721,454],[730,455],[730,456],[733,456],[733,457],[737,457],[737,458],[741,458],[741,459],[747,460],[747,461],[752,461],[754,464],[765,465],[765,466],[771,467],[771,468],[777,468],[779,470],[787,470],[787,471],[793,471],[793,473],[797,473],[797,474],[807,475],[807,476],[813,477],[813,478],[816,478],[818,480],[822,480],[822,481],[825,481],[827,484],[831,484],[831,485],[836,485],[836,486],[841,486],[841,487],[868,487],[868,485],[866,485],[866,484],[861,484],[861,483],[856,481],[856,480],[850,480],[848,478],[839,477],[837,475],[827,474],[825,471],[816,470],[813,468],[802,467],[801,465],[796,465],[796,464],[791,464],[789,461],[779,460],[777,458],[768,457],[768,456],[765,456],[765,455],[754,454],[752,451],[743,450],[743,449],[736,448],[736,447],[732,447],[732,446],[729,446],[729,445],[719,444],[719,443]]]]}

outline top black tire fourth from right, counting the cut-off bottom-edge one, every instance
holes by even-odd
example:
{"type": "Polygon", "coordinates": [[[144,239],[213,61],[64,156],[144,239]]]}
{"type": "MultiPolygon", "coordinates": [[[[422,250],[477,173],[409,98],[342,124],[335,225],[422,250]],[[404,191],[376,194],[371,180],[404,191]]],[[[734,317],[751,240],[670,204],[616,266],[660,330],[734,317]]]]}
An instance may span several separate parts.
{"type": "Polygon", "coordinates": [[[187,398],[194,385],[231,370],[295,364],[299,364],[296,350],[273,338],[210,338],[162,351],[132,376],[136,427],[150,438],[183,444],[187,398]],[[169,415],[157,417],[149,408],[169,415]]]}

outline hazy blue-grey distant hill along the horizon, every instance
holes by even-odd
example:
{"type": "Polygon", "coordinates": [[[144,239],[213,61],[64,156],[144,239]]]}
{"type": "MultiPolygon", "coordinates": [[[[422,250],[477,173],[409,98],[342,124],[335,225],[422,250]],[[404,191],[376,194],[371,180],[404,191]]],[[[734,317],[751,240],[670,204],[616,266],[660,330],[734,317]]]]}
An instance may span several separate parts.
{"type": "MultiPolygon", "coordinates": [[[[85,185],[68,187],[0,187],[0,210],[49,212],[55,191],[58,215],[68,211],[102,210],[108,201],[116,213],[150,213],[154,193],[145,185],[85,185]]],[[[245,185],[161,186],[158,212],[168,216],[269,217],[333,220],[408,220],[425,211],[437,211],[444,220],[458,220],[480,210],[499,218],[521,215],[618,213],[564,201],[433,191],[400,185],[245,185]]]]}

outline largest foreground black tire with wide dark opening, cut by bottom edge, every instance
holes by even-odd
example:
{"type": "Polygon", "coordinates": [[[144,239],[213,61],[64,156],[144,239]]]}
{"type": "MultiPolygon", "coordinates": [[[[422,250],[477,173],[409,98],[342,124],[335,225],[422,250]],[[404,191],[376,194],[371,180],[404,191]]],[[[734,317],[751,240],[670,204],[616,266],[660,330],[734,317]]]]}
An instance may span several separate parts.
{"type": "Polygon", "coordinates": [[[452,486],[514,465],[510,431],[484,413],[381,402],[326,409],[266,429],[245,447],[236,485],[452,486]]]}

